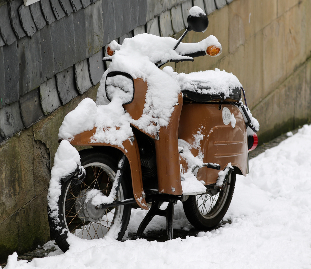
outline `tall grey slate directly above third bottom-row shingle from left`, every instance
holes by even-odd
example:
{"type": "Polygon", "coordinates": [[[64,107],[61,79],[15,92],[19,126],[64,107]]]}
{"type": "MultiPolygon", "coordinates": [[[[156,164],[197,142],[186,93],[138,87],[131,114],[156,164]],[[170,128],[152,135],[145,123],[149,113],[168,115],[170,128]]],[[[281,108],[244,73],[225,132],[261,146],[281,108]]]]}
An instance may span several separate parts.
{"type": "Polygon", "coordinates": [[[46,25],[40,30],[42,78],[41,83],[54,75],[54,52],[51,26],[46,25]]]}

